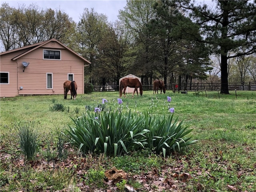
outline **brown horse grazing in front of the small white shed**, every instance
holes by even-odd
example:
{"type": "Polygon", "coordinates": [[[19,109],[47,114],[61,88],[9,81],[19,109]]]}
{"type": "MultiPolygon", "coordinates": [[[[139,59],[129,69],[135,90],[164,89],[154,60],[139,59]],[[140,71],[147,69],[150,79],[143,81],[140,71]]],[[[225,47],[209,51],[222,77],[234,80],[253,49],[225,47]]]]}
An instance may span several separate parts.
{"type": "Polygon", "coordinates": [[[122,97],[122,90],[123,89],[124,89],[124,97],[126,97],[125,91],[126,91],[127,87],[134,88],[132,98],[134,98],[135,91],[137,92],[137,95],[138,95],[138,88],[140,88],[140,95],[142,96],[142,85],[141,85],[141,83],[138,79],[132,79],[132,78],[122,79],[120,81],[120,85],[119,85],[119,96],[120,97],[122,97]]]}

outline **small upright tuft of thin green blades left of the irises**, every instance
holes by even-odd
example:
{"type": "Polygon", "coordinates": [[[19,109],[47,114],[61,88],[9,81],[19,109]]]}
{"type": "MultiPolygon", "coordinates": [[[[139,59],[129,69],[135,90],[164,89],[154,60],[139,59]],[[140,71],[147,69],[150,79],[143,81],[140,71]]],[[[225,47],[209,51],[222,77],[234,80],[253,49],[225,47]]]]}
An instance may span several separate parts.
{"type": "Polygon", "coordinates": [[[15,125],[20,138],[20,148],[28,161],[34,159],[34,154],[38,150],[38,133],[34,129],[33,122],[20,122],[15,125]]]}

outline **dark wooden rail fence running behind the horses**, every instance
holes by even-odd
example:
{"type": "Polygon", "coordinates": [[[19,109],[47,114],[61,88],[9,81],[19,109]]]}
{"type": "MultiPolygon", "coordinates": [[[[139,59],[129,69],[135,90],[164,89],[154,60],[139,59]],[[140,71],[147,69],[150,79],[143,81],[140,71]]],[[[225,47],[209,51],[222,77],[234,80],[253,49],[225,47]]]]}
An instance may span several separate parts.
{"type": "MultiPolygon", "coordinates": [[[[153,90],[153,85],[142,85],[143,90],[153,90]]],[[[192,83],[192,84],[167,84],[167,90],[175,91],[217,91],[221,88],[221,83],[192,83]]],[[[256,91],[256,83],[244,82],[244,83],[229,83],[229,90],[244,90],[244,91],[256,91]]],[[[118,91],[119,86],[117,85],[98,85],[94,86],[94,91],[118,91]]]]}

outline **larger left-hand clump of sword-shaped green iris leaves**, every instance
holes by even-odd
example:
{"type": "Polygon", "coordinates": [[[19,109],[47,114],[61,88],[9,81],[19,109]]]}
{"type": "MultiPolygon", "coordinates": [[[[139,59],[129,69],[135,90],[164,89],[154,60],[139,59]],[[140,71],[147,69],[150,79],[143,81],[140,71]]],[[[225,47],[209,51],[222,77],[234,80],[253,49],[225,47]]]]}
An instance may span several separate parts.
{"type": "Polygon", "coordinates": [[[119,156],[136,148],[143,148],[148,130],[142,116],[134,116],[130,111],[120,113],[94,109],[86,111],[78,118],[72,118],[74,126],[69,126],[70,142],[83,154],[88,152],[119,156]]]}

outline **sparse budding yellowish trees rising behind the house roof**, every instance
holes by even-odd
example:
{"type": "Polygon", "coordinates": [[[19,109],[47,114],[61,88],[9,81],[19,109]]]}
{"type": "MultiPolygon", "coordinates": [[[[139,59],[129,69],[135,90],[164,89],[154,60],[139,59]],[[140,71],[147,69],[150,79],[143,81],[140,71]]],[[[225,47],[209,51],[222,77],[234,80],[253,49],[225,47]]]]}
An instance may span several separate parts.
{"type": "Polygon", "coordinates": [[[62,43],[74,33],[74,22],[60,10],[42,10],[36,4],[11,8],[4,3],[0,11],[1,40],[5,51],[36,44],[51,38],[62,43]]]}

